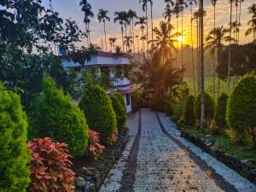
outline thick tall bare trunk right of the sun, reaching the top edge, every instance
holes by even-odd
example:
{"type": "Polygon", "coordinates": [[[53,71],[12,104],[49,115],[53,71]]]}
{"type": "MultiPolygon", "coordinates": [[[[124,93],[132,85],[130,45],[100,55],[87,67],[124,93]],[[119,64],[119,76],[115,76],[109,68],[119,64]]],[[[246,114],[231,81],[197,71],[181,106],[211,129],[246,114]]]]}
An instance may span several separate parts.
{"type": "Polygon", "coordinates": [[[200,65],[201,65],[201,120],[200,120],[200,130],[205,130],[205,82],[204,82],[204,16],[203,16],[203,0],[200,0],[200,10],[201,10],[201,19],[200,19],[200,65]]]}

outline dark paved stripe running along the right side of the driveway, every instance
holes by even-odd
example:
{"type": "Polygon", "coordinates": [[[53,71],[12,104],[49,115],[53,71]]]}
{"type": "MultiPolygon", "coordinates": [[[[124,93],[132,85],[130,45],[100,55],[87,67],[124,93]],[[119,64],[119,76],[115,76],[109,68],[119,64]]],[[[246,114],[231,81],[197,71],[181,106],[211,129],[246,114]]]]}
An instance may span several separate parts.
{"type": "Polygon", "coordinates": [[[226,182],[224,180],[224,178],[222,176],[220,176],[217,172],[215,172],[212,167],[207,166],[207,164],[203,161],[200,160],[192,151],[189,150],[189,148],[186,148],[183,143],[181,143],[179,140],[177,140],[177,138],[173,137],[168,131],[166,131],[165,126],[163,125],[159,114],[156,112],[156,117],[158,119],[159,125],[160,125],[160,129],[161,131],[166,134],[167,137],[169,137],[170,139],[172,139],[172,141],[174,141],[175,143],[177,143],[177,145],[182,148],[186,154],[189,155],[189,157],[191,158],[191,160],[194,160],[195,163],[201,167],[201,169],[206,172],[207,176],[210,177],[214,183],[216,183],[218,185],[218,187],[220,189],[223,189],[224,191],[227,192],[236,192],[236,188],[231,185],[230,183],[226,182]]]}

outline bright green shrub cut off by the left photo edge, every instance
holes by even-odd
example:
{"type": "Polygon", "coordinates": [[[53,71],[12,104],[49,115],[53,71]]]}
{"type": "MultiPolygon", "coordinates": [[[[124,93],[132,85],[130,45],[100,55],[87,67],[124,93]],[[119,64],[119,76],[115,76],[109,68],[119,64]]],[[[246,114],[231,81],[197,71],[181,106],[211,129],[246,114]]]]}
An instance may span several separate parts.
{"type": "Polygon", "coordinates": [[[26,114],[20,97],[0,84],[0,191],[26,192],[30,182],[26,114]]]}

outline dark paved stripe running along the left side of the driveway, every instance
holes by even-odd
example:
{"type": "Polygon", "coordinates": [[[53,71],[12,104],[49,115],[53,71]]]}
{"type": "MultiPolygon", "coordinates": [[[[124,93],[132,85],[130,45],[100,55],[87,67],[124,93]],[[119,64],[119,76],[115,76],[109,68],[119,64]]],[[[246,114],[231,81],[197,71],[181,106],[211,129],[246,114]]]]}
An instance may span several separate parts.
{"type": "Polygon", "coordinates": [[[139,149],[140,138],[142,135],[142,110],[139,111],[137,136],[132,144],[128,160],[125,165],[121,187],[119,191],[131,192],[133,190],[133,183],[135,182],[135,174],[137,172],[137,154],[139,149]]]}

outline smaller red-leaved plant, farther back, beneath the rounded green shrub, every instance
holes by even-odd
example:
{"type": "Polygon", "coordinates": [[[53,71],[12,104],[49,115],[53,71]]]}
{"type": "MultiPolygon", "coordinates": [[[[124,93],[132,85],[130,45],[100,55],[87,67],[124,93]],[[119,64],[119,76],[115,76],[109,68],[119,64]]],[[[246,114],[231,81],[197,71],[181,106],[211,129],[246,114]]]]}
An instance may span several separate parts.
{"type": "Polygon", "coordinates": [[[88,152],[94,158],[99,157],[105,148],[104,145],[100,143],[100,135],[101,134],[96,131],[89,130],[88,152]]]}

